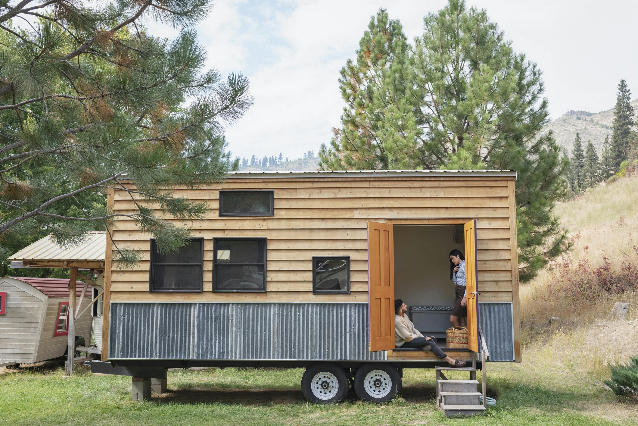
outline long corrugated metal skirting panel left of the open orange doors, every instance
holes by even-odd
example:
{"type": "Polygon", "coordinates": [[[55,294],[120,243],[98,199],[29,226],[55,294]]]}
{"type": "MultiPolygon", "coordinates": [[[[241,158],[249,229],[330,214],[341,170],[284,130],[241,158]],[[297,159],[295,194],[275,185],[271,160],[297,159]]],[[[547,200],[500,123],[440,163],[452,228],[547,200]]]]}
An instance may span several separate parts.
{"type": "Polygon", "coordinates": [[[365,303],[112,303],[114,360],[385,360],[365,303]]]}

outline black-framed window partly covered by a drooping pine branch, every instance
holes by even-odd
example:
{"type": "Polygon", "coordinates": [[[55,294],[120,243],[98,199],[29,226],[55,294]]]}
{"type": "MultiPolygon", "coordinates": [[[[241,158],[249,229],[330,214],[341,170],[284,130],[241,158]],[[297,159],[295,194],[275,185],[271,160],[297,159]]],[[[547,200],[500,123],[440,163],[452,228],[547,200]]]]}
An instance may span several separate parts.
{"type": "Polygon", "coordinates": [[[191,238],[176,253],[160,254],[151,239],[149,291],[202,291],[204,239],[191,238]]]}

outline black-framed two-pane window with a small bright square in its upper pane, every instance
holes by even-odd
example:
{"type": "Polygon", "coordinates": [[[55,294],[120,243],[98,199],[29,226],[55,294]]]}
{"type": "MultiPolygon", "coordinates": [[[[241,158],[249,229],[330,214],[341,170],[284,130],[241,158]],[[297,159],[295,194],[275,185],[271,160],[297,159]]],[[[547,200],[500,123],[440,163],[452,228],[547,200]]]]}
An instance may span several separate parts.
{"type": "Polygon", "coordinates": [[[266,239],[216,238],[212,291],[266,291],[266,239]]]}

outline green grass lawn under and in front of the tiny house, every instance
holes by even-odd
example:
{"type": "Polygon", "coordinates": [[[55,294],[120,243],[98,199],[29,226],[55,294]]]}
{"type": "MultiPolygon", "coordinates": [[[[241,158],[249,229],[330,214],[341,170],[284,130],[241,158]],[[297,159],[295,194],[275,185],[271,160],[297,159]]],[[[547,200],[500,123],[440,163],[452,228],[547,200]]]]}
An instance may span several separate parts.
{"type": "MultiPolygon", "coordinates": [[[[533,360],[490,364],[486,417],[445,419],[434,406],[434,372],[404,370],[403,395],[385,405],[304,401],[303,370],[169,370],[170,393],[131,402],[131,379],[80,368],[68,379],[57,365],[0,369],[0,418],[5,425],[635,425],[637,407],[616,400],[598,380],[568,363],[533,360]]],[[[545,359],[545,356],[542,357],[545,359]]],[[[461,378],[461,372],[455,373],[461,378]]]]}

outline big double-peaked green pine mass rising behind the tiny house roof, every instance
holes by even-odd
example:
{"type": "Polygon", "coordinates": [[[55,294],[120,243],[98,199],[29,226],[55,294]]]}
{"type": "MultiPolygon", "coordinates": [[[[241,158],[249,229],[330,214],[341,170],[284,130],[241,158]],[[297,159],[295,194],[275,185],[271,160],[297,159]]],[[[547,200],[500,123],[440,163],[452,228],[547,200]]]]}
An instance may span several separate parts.
{"type": "Polygon", "coordinates": [[[515,169],[520,279],[568,247],[554,215],[567,164],[543,132],[541,71],[486,11],[450,0],[409,45],[379,10],[356,55],[341,69],[346,105],[320,169],[515,169]]]}

